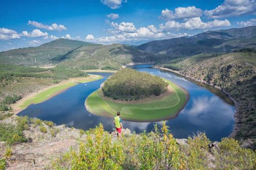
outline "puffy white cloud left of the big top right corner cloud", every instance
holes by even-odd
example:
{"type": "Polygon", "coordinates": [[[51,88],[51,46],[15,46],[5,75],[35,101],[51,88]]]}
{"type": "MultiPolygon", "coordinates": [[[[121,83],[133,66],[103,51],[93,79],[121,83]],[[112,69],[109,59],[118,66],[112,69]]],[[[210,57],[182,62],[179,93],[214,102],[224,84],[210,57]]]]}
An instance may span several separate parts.
{"type": "Polygon", "coordinates": [[[203,14],[203,11],[200,8],[195,6],[188,7],[178,7],[175,8],[175,11],[162,10],[160,18],[164,20],[176,20],[176,19],[186,19],[186,18],[195,18],[203,14]]]}

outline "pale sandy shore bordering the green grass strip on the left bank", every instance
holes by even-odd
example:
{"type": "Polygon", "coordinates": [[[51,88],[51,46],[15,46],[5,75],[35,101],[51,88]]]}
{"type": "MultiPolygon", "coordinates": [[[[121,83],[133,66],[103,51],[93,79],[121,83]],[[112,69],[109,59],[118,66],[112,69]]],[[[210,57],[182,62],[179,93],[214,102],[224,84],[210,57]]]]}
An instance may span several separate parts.
{"type": "Polygon", "coordinates": [[[22,99],[16,101],[16,103],[11,104],[11,107],[13,108],[14,114],[18,114],[19,112],[23,111],[24,109],[26,109],[31,104],[39,104],[39,103],[42,103],[43,101],[51,99],[52,97],[54,97],[56,95],[61,94],[62,92],[68,90],[68,88],[76,86],[77,82],[88,83],[88,82],[93,82],[94,80],[98,80],[98,79],[102,78],[102,76],[100,76],[100,75],[93,75],[93,74],[89,74],[89,75],[90,75],[89,77],[85,77],[85,78],[69,78],[68,80],[64,80],[64,81],[62,81],[60,83],[53,84],[52,86],[48,86],[48,87],[43,88],[43,89],[41,89],[41,90],[39,90],[37,92],[33,92],[32,94],[28,94],[28,95],[22,97],[22,99]],[[53,94],[47,95],[46,97],[44,97],[43,100],[41,100],[39,102],[31,101],[24,108],[22,107],[22,105],[26,101],[32,100],[32,97],[35,97],[36,95],[40,95],[43,92],[47,92],[49,90],[52,90],[52,88],[61,87],[61,86],[67,86],[67,87],[64,87],[63,89],[60,89],[60,90],[56,90],[55,92],[53,92],[53,94]]]}

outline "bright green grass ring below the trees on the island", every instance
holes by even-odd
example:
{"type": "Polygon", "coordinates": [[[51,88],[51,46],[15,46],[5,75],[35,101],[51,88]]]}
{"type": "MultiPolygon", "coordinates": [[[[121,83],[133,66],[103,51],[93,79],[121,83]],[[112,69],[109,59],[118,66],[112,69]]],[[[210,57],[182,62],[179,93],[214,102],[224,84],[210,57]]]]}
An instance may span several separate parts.
{"type": "Polygon", "coordinates": [[[145,103],[117,103],[107,100],[101,89],[94,91],[85,101],[86,108],[93,114],[114,117],[121,112],[123,120],[150,122],[175,117],[187,104],[189,94],[177,84],[167,80],[173,92],[160,100],[145,103]],[[104,98],[104,99],[103,99],[104,98]]]}

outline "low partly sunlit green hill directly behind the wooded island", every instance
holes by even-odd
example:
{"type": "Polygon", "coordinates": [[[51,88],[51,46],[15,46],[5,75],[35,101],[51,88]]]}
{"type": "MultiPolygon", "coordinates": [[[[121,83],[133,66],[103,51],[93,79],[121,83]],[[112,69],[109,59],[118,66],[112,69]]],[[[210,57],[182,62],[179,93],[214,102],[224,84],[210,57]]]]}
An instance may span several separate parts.
{"type": "Polygon", "coordinates": [[[118,70],[122,65],[130,62],[157,62],[162,60],[155,54],[121,44],[81,46],[73,50],[72,53],[53,58],[53,60],[58,59],[67,60],[61,62],[60,66],[108,70],[118,70]]]}

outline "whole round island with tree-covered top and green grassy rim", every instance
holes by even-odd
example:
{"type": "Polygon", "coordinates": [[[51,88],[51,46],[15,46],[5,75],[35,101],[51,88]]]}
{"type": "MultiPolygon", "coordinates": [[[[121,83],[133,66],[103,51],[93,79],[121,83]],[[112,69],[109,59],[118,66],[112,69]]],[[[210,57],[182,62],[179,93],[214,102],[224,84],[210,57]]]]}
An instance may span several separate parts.
{"type": "Polygon", "coordinates": [[[98,116],[113,117],[120,111],[123,120],[151,122],[176,117],[188,99],[188,92],[170,80],[121,69],[90,94],[85,105],[98,116]]]}

